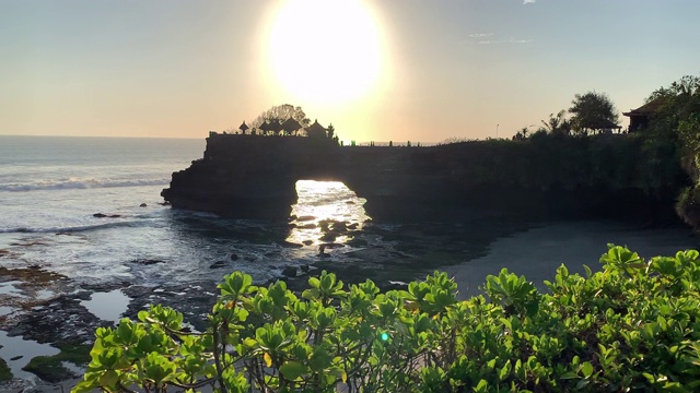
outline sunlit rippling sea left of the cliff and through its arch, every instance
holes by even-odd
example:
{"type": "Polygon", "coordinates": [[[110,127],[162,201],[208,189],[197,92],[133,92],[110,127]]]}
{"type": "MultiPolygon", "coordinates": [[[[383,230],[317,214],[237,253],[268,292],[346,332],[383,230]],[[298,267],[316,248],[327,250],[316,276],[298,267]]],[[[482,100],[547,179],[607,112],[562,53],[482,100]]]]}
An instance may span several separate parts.
{"type": "Polygon", "coordinates": [[[292,214],[303,228],[163,205],[160,192],[172,172],[203,150],[203,139],[0,136],[0,262],[40,266],[78,284],[159,285],[219,282],[221,271],[209,267],[225,260],[229,270],[265,282],[316,258],[314,223],[369,218],[363,202],[338,182],[298,184],[292,214]],[[240,258],[232,260],[234,253],[240,258]]]}

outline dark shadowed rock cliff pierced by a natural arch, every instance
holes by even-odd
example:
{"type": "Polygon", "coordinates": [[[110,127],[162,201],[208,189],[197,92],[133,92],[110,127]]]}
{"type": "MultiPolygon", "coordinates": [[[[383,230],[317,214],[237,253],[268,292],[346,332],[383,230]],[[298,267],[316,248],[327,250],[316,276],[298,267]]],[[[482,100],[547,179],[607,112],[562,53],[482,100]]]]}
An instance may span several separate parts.
{"type": "Polygon", "coordinates": [[[639,148],[621,139],[339,147],[310,138],[213,134],[205,157],[173,174],[162,195],[178,209],[285,218],[298,180],[337,180],[368,200],[375,219],[485,211],[656,219],[673,211],[681,180],[674,168],[646,168],[639,148]]]}

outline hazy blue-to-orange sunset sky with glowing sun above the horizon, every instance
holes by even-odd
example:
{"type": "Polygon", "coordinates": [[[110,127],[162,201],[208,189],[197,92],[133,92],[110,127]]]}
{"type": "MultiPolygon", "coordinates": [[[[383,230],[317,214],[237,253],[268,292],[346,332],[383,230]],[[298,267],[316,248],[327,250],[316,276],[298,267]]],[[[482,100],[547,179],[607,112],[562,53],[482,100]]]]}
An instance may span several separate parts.
{"type": "MultiPolygon", "coordinates": [[[[697,0],[2,0],[0,134],[205,138],[301,106],[345,141],[511,138],[700,75],[697,0]]],[[[627,118],[620,116],[627,126],[627,118]]]]}

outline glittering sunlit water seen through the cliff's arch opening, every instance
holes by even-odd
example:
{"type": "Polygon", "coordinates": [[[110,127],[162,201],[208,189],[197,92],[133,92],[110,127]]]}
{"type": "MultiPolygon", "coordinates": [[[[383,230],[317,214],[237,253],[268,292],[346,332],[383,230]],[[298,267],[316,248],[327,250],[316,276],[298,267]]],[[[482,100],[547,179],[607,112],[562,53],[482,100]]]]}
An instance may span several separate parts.
{"type": "Polygon", "coordinates": [[[305,246],[343,245],[370,219],[363,198],[340,181],[299,180],[287,241],[305,246]]]}

